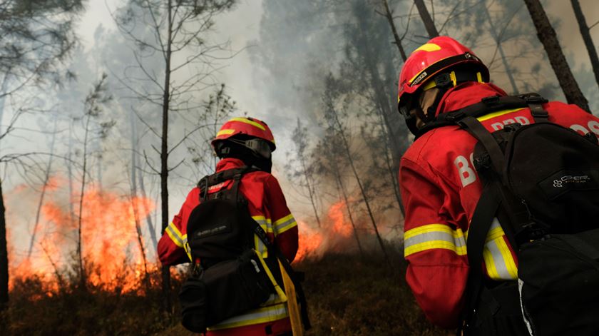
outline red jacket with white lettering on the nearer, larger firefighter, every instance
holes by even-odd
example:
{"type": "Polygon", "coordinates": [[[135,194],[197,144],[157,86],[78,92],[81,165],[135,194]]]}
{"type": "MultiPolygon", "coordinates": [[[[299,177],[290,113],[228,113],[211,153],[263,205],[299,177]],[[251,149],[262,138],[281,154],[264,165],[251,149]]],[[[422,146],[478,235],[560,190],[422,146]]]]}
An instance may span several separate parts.
{"type": "MultiPolygon", "coordinates": [[[[497,94],[506,95],[493,84],[463,83],[445,94],[437,113],[497,94]]],[[[543,108],[549,121],[599,136],[599,119],[578,106],[551,102],[543,108]]],[[[478,120],[489,131],[508,123],[534,122],[528,108],[490,113],[478,120]]],[[[482,189],[472,164],[475,144],[476,139],[458,126],[445,126],[418,138],[401,158],[406,280],[426,317],[441,327],[457,327],[464,306],[469,270],[465,237],[482,189]]],[[[497,220],[487,235],[483,260],[489,278],[517,278],[518,260],[497,220]]]]}

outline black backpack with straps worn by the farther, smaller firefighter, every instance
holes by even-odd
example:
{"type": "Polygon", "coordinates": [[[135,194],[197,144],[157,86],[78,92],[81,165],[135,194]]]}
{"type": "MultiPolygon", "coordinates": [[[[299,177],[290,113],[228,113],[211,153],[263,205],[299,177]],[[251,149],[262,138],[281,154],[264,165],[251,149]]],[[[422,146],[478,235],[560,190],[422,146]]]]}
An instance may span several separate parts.
{"type": "Polygon", "coordinates": [[[247,166],[223,170],[198,182],[200,204],[192,210],[187,226],[194,270],[179,293],[182,324],[188,330],[204,332],[206,327],[266,302],[283,283],[279,262],[296,287],[302,322],[309,329],[297,276],[277,245],[270,243],[252,219],[247,199],[239,192],[242,176],[257,170],[247,166]],[[208,193],[210,187],[218,188],[227,180],[233,180],[231,188],[208,193]],[[265,243],[269,258],[254,250],[254,235],[265,243]]]}

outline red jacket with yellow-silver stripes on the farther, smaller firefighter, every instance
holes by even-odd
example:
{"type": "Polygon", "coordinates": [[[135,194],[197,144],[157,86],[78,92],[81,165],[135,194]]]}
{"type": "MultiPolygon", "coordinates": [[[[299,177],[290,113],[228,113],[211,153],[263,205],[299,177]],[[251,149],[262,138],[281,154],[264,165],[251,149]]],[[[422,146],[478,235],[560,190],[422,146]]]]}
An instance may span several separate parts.
{"type": "MultiPolygon", "coordinates": [[[[219,161],[216,171],[228,170],[244,166],[236,158],[225,158],[219,161]]],[[[208,193],[216,193],[222,188],[231,188],[232,180],[215,185],[208,193]]],[[[250,172],[243,175],[239,191],[247,198],[247,208],[252,218],[260,223],[271,241],[280,248],[281,252],[290,262],[297,253],[297,223],[293,218],[285,196],[277,179],[263,171],[250,172]]],[[[168,225],[165,233],[158,242],[158,258],[163,265],[177,265],[189,263],[189,245],[187,243],[187,223],[192,210],[200,203],[200,190],[193,188],[187,196],[185,203],[173,222],[168,225]]],[[[255,237],[255,248],[267,257],[265,245],[255,237]]],[[[219,325],[213,326],[208,331],[212,336],[233,335],[279,335],[291,330],[287,306],[281,298],[273,295],[271,300],[257,310],[247,314],[232,317],[219,325]],[[268,333],[271,332],[271,333],[268,333]]]]}

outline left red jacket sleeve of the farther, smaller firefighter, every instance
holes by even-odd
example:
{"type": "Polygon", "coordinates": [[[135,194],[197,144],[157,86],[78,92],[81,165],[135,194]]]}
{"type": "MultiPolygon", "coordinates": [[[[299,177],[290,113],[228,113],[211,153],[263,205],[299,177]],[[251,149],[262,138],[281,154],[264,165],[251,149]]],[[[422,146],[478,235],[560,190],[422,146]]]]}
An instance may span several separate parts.
{"type": "Polygon", "coordinates": [[[175,215],[173,221],[164,230],[160,241],[158,241],[158,259],[165,266],[190,262],[190,256],[186,253],[188,243],[185,228],[187,227],[186,220],[191,212],[190,209],[195,207],[192,204],[193,196],[197,194],[197,192],[194,193],[194,190],[190,191],[179,213],[175,215]]]}

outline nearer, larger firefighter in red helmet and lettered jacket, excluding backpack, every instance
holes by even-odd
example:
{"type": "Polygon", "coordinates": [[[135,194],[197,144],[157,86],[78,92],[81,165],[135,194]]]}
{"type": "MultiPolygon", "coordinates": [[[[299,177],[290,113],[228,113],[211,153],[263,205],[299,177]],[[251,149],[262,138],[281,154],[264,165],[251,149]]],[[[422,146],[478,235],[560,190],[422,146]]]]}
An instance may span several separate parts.
{"type": "MultiPolygon", "coordinates": [[[[440,113],[488,96],[506,96],[488,83],[488,77],[486,66],[458,41],[446,36],[431,39],[401,69],[399,110],[416,134],[440,113]]],[[[578,106],[553,101],[543,108],[549,121],[599,136],[599,119],[578,106]]],[[[534,122],[529,108],[489,113],[478,120],[488,131],[534,122]]],[[[399,170],[406,208],[406,280],[426,317],[446,328],[459,327],[465,305],[466,233],[482,190],[472,163],[475,144],[476,139],[459,126],[434,128],[414,141],[399,170]]],[[[482,267],[488,281],[517,279],[518,260],[498,220],[488,232],[483,265],[473,267],[482,267]]]]}

